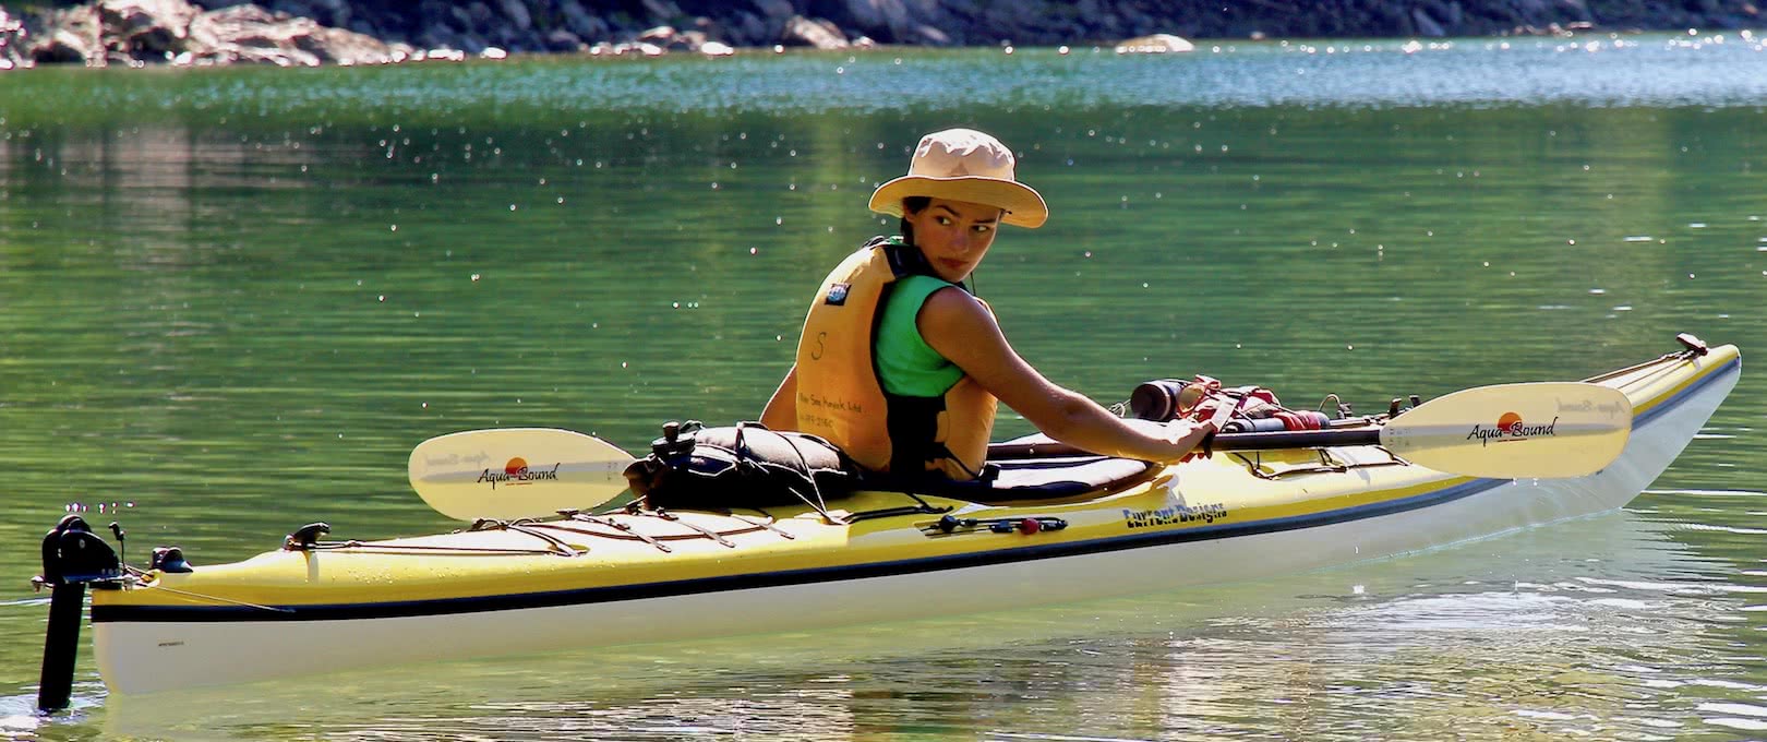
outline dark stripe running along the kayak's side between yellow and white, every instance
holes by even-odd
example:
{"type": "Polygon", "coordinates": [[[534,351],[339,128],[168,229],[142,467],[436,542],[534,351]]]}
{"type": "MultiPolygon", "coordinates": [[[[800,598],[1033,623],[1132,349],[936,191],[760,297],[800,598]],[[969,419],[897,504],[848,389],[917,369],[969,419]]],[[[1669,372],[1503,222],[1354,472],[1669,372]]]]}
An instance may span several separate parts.
{"type": "MultiPolygon", "coordinates": [[[[1709,369],[1698,378],[1689,380],[1689,383],[1682,385],[1680,389],[1666,394],[1665,398],[1659,398],[1656,405],[1652,405],[1645,413],[1634,419],[1633,426],[1638,428],[1649,424],[1652,419],[1661,417],[1668,410],[1673,410],[1675,406],[1679,406],[1682,401],[1686,401],[1703,387],[1716,383],[1718,380],[1726,378],[1728,375],[1739,371],[1740,371],[1740,359],[1709,369]]],[[[1490,489],[1505,484],[1509,484],[1509,481],[1475,479],[1470,482],[1461,482],[1405,498],[1394,498],[1385,502],[1375,502],[1375,504],[1364,504],[1346,509],[1334,509],[1334,511],[1311,512],[1301,516],[1270,518],[1251,523],[1223,523],[1223,525],[1194,526],[1172,532],[1126,534],[1126,535],[1111,535],[1103,539],[1073,541],[1058,544],[1020,546],[1011,549],[922,556],[922,558],[892,560],[892,562],[869,562],[869,564],[839,565],[839,567],[811,567],[811,569],[793,569],[793,571],[776,571],[776,572],[758,572],[758,574],[732,574],[717,578],[679,579],[666,583],[613,585],[613,587],[534,592],[534,594],[516,594],[516,595],[451,597],[451,599],[433,599],[433,601],[399,601],[399,602],[366,602],[366,604],[357,602],[357,604],[277,606],[286,610],[286,613],[281,611],[270,613],[263,610],[239,608],[239,606],[94,604],[92,622],[94,624],[104,624],[104,622],[205,624],[205,622],[405,618],[405,617],[436,617],[436,615],[458,615],[458,613],[532,610],[532,608],[562,608],[562,606],[641,601],[641,599],[691,595],[691,594],[714,594],[714,592],[732,592],[732,590],[852,581],[852,579],[887,578],[901,574],[938,572],[938,571],[952,571],[967,567],[1035,562],[1046,558],[1085,556],[1085,555],[1097,555],[1110,551],[1159,548],[1159,546],[1186,544],[1186,542],[1237,539],[1246,535],[1316,528],[1316,526],[1327,526],[1327,525],[1338,525],[1338,523],[1348,523],[1348,521],[1359,521],[1359,519],[1369,519],[1369,518],[1380,518],[1380,516],[1433,507],[1445,502],[1486,493],[1490,489]]]]}

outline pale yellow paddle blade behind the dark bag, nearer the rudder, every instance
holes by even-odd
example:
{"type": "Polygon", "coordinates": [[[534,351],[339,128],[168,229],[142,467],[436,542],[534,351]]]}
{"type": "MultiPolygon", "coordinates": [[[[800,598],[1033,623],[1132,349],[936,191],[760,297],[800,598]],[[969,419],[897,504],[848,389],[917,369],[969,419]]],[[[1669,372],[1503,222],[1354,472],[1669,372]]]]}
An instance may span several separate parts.
{"type": "Polygon", "coordinates": [[[553,428],[461,431],[412,450],[412,489],[436,512],[477,518],[546,518],[588,509],[626,491],[633,456],[592,435],[553,428]]]}

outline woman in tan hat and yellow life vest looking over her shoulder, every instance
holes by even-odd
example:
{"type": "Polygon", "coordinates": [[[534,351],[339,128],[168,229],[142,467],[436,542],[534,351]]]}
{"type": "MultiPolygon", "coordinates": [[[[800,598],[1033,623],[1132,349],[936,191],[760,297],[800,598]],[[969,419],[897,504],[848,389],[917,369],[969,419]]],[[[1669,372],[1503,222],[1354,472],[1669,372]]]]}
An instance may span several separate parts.
{"type": "Polygon", "coordinates": [[[1212,420],[1129,426],[1055,385],[963,284],[997,226],[1037,228],[1050,214],[993,136],[924,136],[908,175],[880,186],[871,210],[899,216],[901,237],[873,238],[823,281],[797,364],[762,413],[767,428],[820,435],[871,472],[958,481],[982,475],[997,401],[1106,456],[1177,461],[1214,433],[1212,420]]]}

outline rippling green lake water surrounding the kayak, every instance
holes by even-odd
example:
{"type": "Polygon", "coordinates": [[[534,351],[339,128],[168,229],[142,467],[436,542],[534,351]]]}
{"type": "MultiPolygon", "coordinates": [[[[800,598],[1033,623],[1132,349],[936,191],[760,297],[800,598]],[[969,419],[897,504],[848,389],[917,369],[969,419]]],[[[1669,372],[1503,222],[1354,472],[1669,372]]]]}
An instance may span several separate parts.
{"type": "MultiPolygon", "coordinates": [[[[417,442],[641,449],[755,417],[921,132],[1051,203],[977,274],[1101,401],[1209,373],[1311,406],[1767,346],[1756,37],[1225,44],[0,76],[0,735],[1749,738],[1767,389],[1633,505],[1182,594],[110,696],[30,714],[71,505],[194,564],[452,528],[417,442]]],[[[1023,433],[1005,419],[1000,435],[1023,433]]],[[[928,599],[937,599],[929,595],[928,599]]],[[[634,627],[640,631],[640,627],[634,627]]]]}

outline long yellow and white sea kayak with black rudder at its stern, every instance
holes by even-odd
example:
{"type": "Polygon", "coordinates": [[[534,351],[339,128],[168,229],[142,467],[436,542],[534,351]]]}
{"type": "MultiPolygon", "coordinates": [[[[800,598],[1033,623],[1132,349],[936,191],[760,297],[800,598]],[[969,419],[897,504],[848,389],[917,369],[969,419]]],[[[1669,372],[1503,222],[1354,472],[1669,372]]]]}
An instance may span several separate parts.
{"type": "MultiPolygon", "coordinates": [[[[101,542],[74,534],[58,549],[46,541],[44,583],[94,587],[99,673],[117,693],[150,693],[1253,579],[1626,505],[1740,376],[1735,346],[1687,336],[1682,344],[1585,380],[1624,396],[1629,431],[1612,463],[1574,477],[1449,473],[1410,461],[1385,438],[1216,449],[1170,466],[1076,452],[1002,459],[1002,481],[1016,491],[873,489],[724,512],[610,507],[391,541],[325,541],[323,528],[306,528],[276,551],[219,565],[189,567],[161,553],[150,569],[108,569],[64,558],[67,544],[101,542]]],[[[1405,417],[1366,428],[1396,420],[1405,417]]],[[[1490,440],[1490,428],[1451,435],[1481,452],[1507,445],[1490,440]]],[[[1551,426],[1513,429],[1553,435],[1551,426]]],[[[72,617],[78,636],[78,599],[72,617]]],[[[57,631],[65,641],[65,622],[51,615],[51,645],[57,631]]],[[[46,682],[60,673],[49,654],[46,682]]]]}

